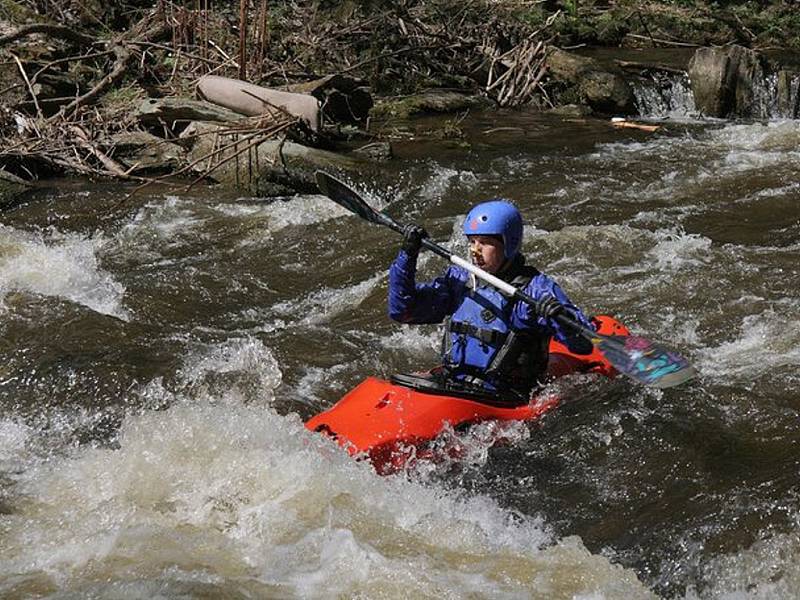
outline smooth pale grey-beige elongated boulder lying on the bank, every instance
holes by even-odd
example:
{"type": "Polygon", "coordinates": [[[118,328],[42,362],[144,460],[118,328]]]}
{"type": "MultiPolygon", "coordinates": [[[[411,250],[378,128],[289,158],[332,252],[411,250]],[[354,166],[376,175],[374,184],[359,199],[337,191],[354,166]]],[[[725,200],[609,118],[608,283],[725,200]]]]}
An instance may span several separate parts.
{"type": "Polygon", "coordinates": [[[313,131],[319,131],[319,101],[309,94],[284,92],[240,79],[206,75],[197,83],[197,95],[249,117],[268,114],[271,109],[278,108],[303,119],[313,131]]]}

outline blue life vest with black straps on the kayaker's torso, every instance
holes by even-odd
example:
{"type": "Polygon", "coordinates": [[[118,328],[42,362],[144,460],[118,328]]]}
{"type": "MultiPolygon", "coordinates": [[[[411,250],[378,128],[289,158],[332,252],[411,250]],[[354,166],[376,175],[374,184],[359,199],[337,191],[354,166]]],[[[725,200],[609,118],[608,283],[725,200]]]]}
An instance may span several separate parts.
{"type": "MultiPolygon", "coordinates": [[[[524,288],[539,272],[524,266],[511,280],[524,288]]],[[[475,285],[450,317],[442,345],[449,376],[527,400],[547,370],[550,336],[511,328],[516,300],[488,285],[475,285]]]]}

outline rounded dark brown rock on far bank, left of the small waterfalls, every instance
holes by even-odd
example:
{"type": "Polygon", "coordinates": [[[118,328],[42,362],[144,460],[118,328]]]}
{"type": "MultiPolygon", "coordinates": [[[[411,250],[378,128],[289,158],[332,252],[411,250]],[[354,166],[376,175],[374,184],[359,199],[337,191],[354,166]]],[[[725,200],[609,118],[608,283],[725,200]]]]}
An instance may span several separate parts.
{"type": "Polygon", "coordinates": [[[548,55],[547,67],[552,79],[566,88],[573,88],[577,100],[594,111],[605,114],[636,111],[633,90],[619,70],[603,67],[592,58],[558,49],[548,55]]]}

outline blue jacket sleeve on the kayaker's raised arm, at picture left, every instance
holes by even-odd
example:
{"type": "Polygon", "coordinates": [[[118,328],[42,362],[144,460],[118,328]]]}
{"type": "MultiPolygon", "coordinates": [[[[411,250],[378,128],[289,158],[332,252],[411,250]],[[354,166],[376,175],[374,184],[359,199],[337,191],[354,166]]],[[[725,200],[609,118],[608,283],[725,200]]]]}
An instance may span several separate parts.
{"type": "Polygon", "coordinates": [[[389,317],[400,323],[440,323],[454,310],[459,278],[453,267],[430,283],[417,283],[417,258],[400,250],[389,267],[389,317]]]}

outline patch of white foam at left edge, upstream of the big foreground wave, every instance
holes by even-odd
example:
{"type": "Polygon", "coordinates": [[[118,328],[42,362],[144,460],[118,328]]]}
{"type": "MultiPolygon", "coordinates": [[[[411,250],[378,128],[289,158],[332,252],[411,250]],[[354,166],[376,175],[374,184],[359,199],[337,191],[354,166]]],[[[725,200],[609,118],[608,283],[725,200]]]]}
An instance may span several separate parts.
{"type": "Polygon", "coordinates": [[[29,233],[0,225],[0,298],[14,291],[54,296],[128,320],[124,286],[98,265],[105,244],[101,236],[29,233]]]}

